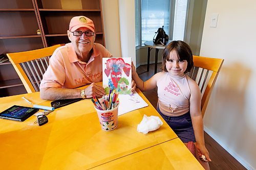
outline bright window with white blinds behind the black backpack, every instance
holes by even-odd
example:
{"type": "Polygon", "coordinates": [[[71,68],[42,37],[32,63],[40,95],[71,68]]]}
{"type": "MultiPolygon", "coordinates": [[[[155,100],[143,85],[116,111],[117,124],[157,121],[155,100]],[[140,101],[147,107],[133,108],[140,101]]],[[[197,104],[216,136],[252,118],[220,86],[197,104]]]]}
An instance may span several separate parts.
{"type": "Polygon", "coordinates": [[[187,0],[135,0],[136,46],[152,41],[162,26],[169,39],[183,40],[186,14],[187,0]]]}

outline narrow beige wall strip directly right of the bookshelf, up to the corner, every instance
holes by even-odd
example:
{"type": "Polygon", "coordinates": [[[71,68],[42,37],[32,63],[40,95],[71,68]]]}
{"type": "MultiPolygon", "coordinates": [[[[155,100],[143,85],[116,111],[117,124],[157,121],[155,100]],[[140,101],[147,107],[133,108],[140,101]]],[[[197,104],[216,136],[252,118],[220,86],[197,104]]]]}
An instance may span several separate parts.
{"type": "Polygon", "coordinates": [[[118,0],[101,0],[106,49],[121,57],[118,0]]]}

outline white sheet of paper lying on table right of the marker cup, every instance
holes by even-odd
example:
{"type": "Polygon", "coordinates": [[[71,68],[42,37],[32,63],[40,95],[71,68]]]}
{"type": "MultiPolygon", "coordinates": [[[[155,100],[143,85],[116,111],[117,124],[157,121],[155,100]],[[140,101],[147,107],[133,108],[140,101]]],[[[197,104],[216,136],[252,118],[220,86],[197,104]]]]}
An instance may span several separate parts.
{"type": "Polygon", "coordinates": [[[119,94],[118,98],[120,101],[118,116],[148,106],[136,91],[133,94],[119,94]]]}

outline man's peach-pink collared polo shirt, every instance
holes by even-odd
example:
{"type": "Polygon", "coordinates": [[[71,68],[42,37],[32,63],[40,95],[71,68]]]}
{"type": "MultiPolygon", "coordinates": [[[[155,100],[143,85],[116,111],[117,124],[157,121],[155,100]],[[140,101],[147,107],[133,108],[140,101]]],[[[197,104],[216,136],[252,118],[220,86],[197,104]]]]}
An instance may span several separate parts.
{"type": "Polygon", "coordinates": [[[106,48],[94,43],[93,54],[88,61],[77,58],[71,43],[58,47],[50,58],[40,88],[76,88],[93,82],[102,81],[102,58],[113,57],[106,48]]]}

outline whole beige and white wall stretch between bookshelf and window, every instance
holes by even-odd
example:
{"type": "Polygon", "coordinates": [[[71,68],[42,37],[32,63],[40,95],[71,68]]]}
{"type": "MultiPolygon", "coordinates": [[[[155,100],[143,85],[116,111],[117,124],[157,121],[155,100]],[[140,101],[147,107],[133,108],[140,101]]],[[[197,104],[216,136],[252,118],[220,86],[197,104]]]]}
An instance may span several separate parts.
{"type": "Polygon", "coordinates": [[[132,57],[135,54],[135,2],[102,0],[102,15],[106,48],[114,57],[132,57]]]}

